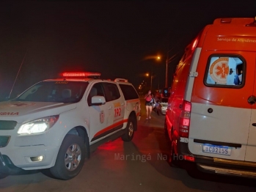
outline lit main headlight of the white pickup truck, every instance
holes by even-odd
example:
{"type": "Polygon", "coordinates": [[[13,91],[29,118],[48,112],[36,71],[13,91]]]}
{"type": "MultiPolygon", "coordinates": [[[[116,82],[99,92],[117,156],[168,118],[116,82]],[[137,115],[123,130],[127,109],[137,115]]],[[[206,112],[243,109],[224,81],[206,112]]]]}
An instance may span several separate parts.
{"type": "Polygon", "coordinates": [[[55,122],[59,119],[59,115],[51,116],[51,117],[43,117],[41,119],[35,119],[31,122],[26,122],[21,125],[21,128],[18,129],[18,134],[26,135],[26,134],[37,134],[43,133],[52,126],[54,126],[55,122]]]}

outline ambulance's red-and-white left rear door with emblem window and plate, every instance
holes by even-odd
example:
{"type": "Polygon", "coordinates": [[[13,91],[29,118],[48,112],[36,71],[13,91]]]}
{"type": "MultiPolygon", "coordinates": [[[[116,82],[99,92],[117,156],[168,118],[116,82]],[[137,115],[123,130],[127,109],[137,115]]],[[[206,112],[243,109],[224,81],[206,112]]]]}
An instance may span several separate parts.
{"type": "Polygon", "coordinates": [[[249,97],[256,96],[255,58],[252,51],[201,52],[191,93],[192,154],[232,160],[255,157],[256,107],[248,103],[249,97]],[[249,128],[252,146],[246,149],[249,128]]]}

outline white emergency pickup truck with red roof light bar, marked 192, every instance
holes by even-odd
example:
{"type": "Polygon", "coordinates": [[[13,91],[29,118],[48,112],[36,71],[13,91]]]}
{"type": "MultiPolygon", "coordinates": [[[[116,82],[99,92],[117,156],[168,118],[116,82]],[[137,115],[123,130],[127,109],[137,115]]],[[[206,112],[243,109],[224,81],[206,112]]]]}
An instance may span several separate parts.
{"type": "Polygon", "coordinates": [[[133,139],[140,102],[132,84],[100,79],[100,73],[62,75],[0,102],[0,177],[49,169],[57,179],[70,180],[92,148],[133,139]]]}

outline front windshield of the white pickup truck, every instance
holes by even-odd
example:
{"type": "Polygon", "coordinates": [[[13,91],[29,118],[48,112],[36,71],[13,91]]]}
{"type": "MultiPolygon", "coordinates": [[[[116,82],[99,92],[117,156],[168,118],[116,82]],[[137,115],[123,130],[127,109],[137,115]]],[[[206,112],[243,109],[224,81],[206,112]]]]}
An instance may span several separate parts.
{"type": "Polygon", "coordinates": [[[87,82],[42,81],[27,89],[14,100],[77,103],[83,97],[87,86],[87,82]]]}

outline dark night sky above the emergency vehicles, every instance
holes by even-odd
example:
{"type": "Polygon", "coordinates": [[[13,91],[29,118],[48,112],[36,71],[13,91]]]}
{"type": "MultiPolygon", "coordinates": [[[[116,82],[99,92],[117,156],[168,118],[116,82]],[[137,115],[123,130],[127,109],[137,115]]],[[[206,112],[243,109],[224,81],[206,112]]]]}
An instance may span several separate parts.
{"type": "Polygon", "coordinates": [[[165,84],[187,44],[215,18],[256,16],[256,1],[0,1],[0,100],[64,71],[138,87],[165,84]],[[224,3],[225,2],[225,3],[224,3]],[[160,62],[144,59],[161,55],[160,62]],[[22,64],[22,66],[21,66],[22,64]],[[19,71],[21,67],[21,70],[19,71]],[[19,73],[18,73],[19,71],[19,73]]]}

